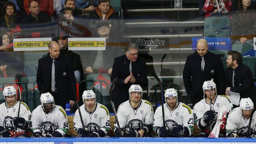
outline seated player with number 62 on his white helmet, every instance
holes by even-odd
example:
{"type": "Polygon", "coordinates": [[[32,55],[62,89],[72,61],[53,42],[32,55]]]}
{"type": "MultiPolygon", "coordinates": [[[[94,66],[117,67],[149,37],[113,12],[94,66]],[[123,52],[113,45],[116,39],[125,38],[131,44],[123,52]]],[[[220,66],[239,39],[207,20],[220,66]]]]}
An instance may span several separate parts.
{"type": "Polygon", "coordinates": [[[106,106],[96,103],[96,95],[93,90],[85,90],[82,95],[83,105],[80,106],[82,113],[82,122],[78,110],[76,110],[74,117],[74,129],[79,137],[104,137],[111,129],[109,112],[106,106]]]}

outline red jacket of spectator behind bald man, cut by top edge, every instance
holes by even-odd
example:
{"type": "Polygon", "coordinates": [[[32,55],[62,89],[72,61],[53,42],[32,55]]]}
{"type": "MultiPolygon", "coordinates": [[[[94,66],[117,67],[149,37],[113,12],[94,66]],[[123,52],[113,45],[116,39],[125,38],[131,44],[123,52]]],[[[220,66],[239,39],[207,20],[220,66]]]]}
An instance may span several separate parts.
{"type": "MultiPolygon", "coordinates": [[[[30,2],[33,2],[34,0],[24,0],[24,9],[27,14],[30,14],[30,2]]],[[[49,17],[54,15],[53,10],[53,0],[36,0],[36,2],[40,5],[40,11],[43,13],[48,14],[49,17]]]]}

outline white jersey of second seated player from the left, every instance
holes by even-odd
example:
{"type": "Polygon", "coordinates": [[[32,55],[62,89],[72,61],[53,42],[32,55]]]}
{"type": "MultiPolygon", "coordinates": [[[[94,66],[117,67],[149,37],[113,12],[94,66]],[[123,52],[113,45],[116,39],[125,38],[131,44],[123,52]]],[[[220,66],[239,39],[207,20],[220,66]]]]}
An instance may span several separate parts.
{"type": "Polygon", "coordinates": [[[34,133],[40,132],[43,136],[48,133],[52,134],[54,131],[58,131],[64,136],[69,131],[67,114],[65,110],[58,105],[55,105],[48,114],[45,113],[42,105],[37,106],[32,112],[31,121],[31,130],[34,133]]]}

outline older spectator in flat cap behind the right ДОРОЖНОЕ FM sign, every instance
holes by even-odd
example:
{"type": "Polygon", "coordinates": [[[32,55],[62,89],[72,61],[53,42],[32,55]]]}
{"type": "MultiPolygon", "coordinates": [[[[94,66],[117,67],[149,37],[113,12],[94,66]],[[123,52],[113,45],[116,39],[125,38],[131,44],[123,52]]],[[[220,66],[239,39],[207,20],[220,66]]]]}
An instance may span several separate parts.
{"type": "Polygon", "coordinates": [[[109,75],[112,73],[114,58],[121,56],[121,48],[119,47],[119,39],[115,32],[111,31],[108,22],[97,23],[96,38],[105,38],[106,50],[89,50],[85,51],[85,71],[89,73],[96,72],[98,69],[104,69],[109,75]]]}

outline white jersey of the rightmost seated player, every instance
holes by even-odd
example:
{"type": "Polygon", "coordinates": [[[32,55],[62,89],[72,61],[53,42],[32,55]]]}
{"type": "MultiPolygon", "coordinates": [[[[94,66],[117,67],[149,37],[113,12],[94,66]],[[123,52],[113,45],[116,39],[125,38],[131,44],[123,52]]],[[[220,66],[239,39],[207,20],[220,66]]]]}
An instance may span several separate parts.
{"type": "MultiPolygon", "coordinates": [[[[245,119],[242,116],[240,107],[235,108],[228,115],[228,119],[226,122],[226,135],[228,135],[228,133],[230,132],[234,132],[237,133],[239,137],[246,137],[249,122],[250,118],[245,119]]],[[[252,123],[250,125],[250,128],[252,128],[253,132],[256,132],[256,113],[252,115],[252,123]]]]}

